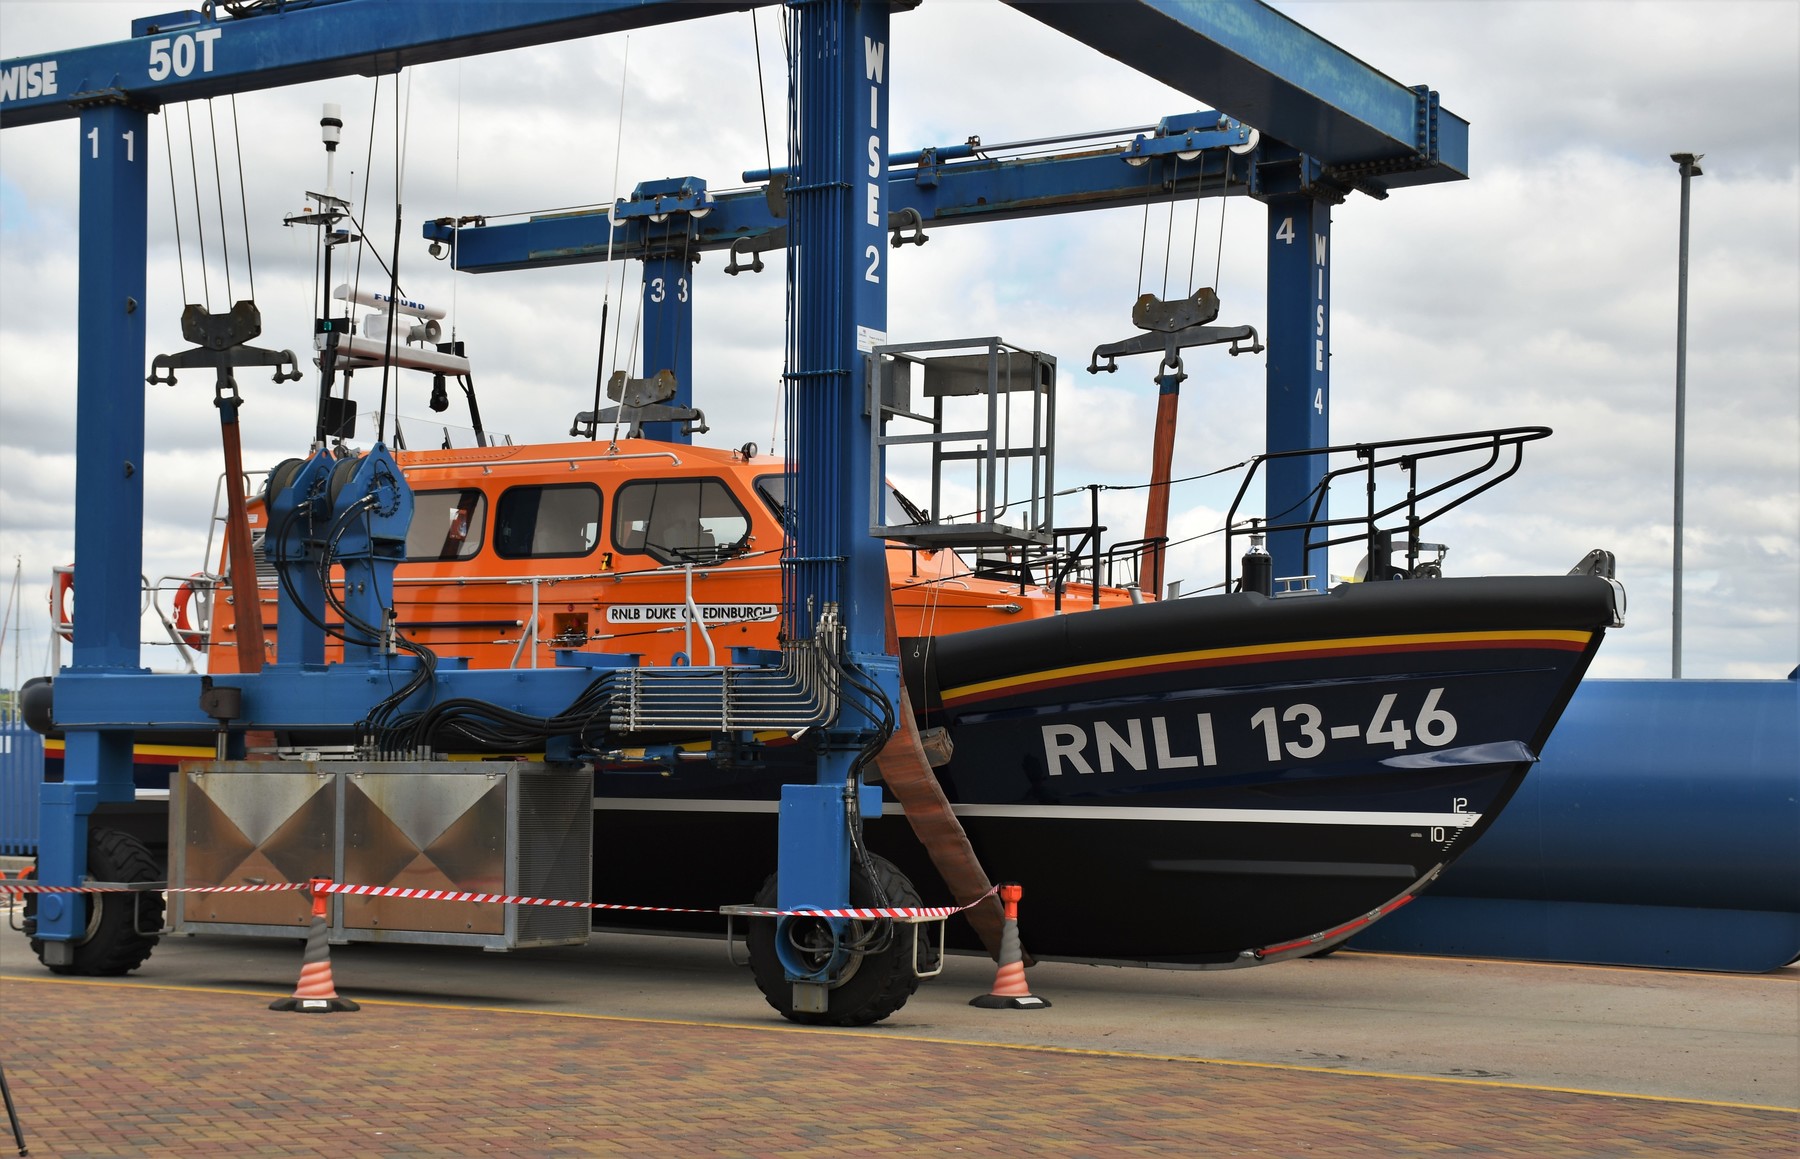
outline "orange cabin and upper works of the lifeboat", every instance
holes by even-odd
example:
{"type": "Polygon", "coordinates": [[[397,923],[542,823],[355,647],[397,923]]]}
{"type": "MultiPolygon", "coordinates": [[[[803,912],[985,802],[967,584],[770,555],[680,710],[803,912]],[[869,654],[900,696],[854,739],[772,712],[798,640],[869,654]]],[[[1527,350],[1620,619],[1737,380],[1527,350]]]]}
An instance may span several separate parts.
{"type": "MultiPolygon", "coordinates": [[[[745,448],[752,450],[752,448],[745,448]]],[[[394,572],[401,632],[473,668],[535,668],[551,650],[724,664],[781,630],[783,461],[650,439],[396,452],[414,493],[394,572]]],[[[275,572],[256,529],[261,619],[274,655],[275,572]]],[[[229,553],[220,574],[229,574],[229,553]]],[[[889,544],[896,630],[945,635],[1053,615],[1046,576],[950,549],[889,544]]],[[[1120,606],[1125,587],[1066,583],[1060,606],[1120,606]]],[[[238,614],[220,592],[211,671],[238,671],[238,614]]],[[[340,659],[333,641],[328,659],[340,659]]]]}

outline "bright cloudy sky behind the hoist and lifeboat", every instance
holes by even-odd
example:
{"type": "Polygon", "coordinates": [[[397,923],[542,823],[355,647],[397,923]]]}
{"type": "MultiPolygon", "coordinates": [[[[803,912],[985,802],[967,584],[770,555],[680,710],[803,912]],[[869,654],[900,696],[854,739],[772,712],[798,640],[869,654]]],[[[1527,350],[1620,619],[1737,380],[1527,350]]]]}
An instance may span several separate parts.
{"type": "MultiPolygon", "coordinates": [[[[0,58],[121,40],[167,5],[0,0],[0,58]]],[[[1670,151],[1706,155],[1694,184],[1688,342],[1685,675],[1784,677],[1800,660],[1800,4],[1282,2],[1298,22],[1406,85],[1426,83],[1471,121],[1471,178],[1355,196],[1332,225],[1334,441],[1541,423],[1517,479],[1435,526],[1449,574],[1561,572],[1589,547],[1618,556],[1629,624],[1604,677],[1665,677],[1670,646],[1676,227],[1670,151]]],[[[454,275],[418,239],[421,220],[592,205],[641,180],[742,185],[765,164],[752,20],[779,99],[778,16],[738,13],[405,74],[401,283],[454,310],[482,416],[518,441],[562,437],[590,401],[605,266],[454,275]],[[623,121],[619,117],[623,85],[623,121]],[[614,173],[614,155],[619,169],[614,173]]],[[[988,0],[927,0],[893,22],[893,144],[1022,140],[1139,126],[1192,97],[988,0]]],[[[245,297],[232,113],[265,346],[308,344],[311,232],[281,218],[322,182],[317,119],[344,106],[340,193],[367,203],[387,252],[396,198],[392,81],[245,94],[153,117],[149,353],[182,349],[187,297],[245,297]],[[193,124],[193,128],[189,128],[193,124]],[[218,227],[212,131],[227,175],[218,227]],[[364,158],[371,148],[373,164],[364,158]],[[169,146],[164,144],[167,133],[169,146]],[[196,245],[193,173],[207,209],[196,245]],[[164,149],[176,158],[171,209],[164,149]],[[364,182],[369,182],[364,194],[364,182]],[[173,221],[184,221],[178,257],[173,221]],[[229,259],[220,252],[220,236],[229,259]],[[387,239],[383,239],[387,234],[387,239]],[[205,281],[203,279],[205,272],[205,281]]],[[[1229,112],[1229,110],[1226,110],[1229,112]]],[[[783,113],[770,106],[781,155],[783,113]]],[[[0,684],[41,671],[45,585],[74,554],[74,122],[0,133],[0,590],[23,569],[0,684]]],[[[1190,252],[1220,322],[1264,328],[1265,211],[1233,198],[932,230],[893,252],[889,335],[1003,335],[1060,360],[1058,481],[1141,482],[1156,391],[1148,360],[1084,373],[1089,351],[1132,333],[1141,288],[1184,293],[1190,252]],[[1195,216],[1197,214],[1197,216],[1195,216]],[[1199,241],[1195,241],[1199,238],[1199,241]],[[1139,279],[1139,250],[1150,254],[1139,279]],[[1208,259],[1213,261],[1208,261],[1208,259]]],[[[781,373],[779,265],[695,286],[695,392],[722,445],[772,441],[781,373]]],[[[635,266],[614,310],[635,299],[635,266]]],[[[626,320],[630,326],[630,320],[626,320]]],[[[1262,450],[1262,364],[1188,358],[1177,475],[1262,450]]],[[[149,387],[146,572],[205,565],[220,472],[211,383],[149,387]]],[[[245,457],[304,454],[311,383],[243,376],[245,457]]],[[[441,423],[425,387],[401,396],[414,445],[441,423]]],[[[365,403],[369,400],[364,400],[365,403]]],[[[454,409],[452,414],[459,410],[454,409]]],[[[365,427],[367,430],[367,427],[365,427]]],[[[1226,484],[1174,495],[1170,535],[1220,524],[1226,484]]],[[[1103,520],[1141,526],[1141,493],[1107,493],[1103,520]]],[[[1334,560],[1348,571],[1354,560],[1334,560]]],[[[1217,538],[1177,549],[1174,576],[1217,581],[1217,538]]],[[[146,664],[173,664],[146,648],[146,664]]]]}

